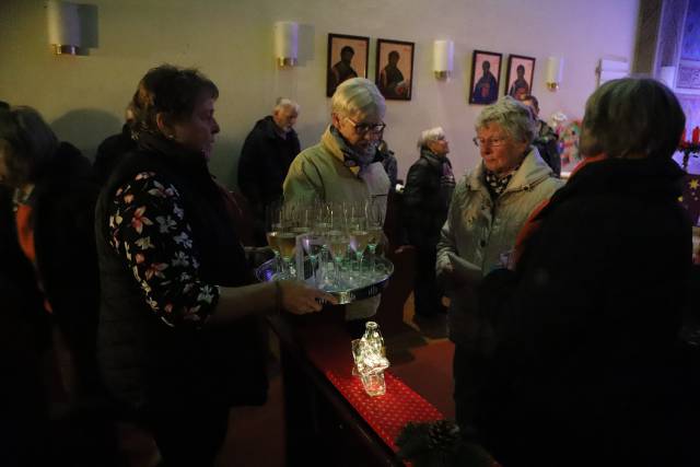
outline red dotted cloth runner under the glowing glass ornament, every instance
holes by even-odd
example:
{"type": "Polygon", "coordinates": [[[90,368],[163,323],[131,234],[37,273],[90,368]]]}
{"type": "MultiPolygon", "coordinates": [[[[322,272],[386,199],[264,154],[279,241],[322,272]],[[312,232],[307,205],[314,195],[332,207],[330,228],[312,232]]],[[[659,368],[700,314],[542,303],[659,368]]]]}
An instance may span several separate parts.
{"type": "Polygon", "coordinates": [[[386,394],[375,397],[364,392],[359,377],[341,376],[332,371],[326,371],[325,374],[394,452],[398,451],[394,441],[406,423],[444,418],[432,404],[388,371],[384,372],[386,394]]]}

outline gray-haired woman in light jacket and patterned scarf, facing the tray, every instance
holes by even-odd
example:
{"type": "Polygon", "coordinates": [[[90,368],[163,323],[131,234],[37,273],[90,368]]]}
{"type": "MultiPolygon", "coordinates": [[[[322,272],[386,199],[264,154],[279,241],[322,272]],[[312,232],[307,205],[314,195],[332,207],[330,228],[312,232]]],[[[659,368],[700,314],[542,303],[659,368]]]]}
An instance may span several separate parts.
{"type": "Polygon", "coordinates": [[[438,243],[438,277],[452,299],[450,338],[455,342],[454,397],[459,424],[471,420],[491,342],[476,313],[477,284],[465,283],[455,273],[450,256],[469,261],[481,275],[501,266],[530,212],[562,184],[532,145],[535,121],[520,102],[506,96],[486,107],[477,117],[476,131],[474,142],[481,162],[455,187],[438,243]]]}

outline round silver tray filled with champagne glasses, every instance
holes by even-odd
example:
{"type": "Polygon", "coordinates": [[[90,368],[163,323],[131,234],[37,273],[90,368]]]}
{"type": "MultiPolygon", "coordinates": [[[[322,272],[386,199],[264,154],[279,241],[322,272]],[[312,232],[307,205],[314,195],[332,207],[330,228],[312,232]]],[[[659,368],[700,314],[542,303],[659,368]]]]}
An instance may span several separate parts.
{"type": "Polygon", "coordinates": [[[270,207],[267,218],[275,258],[256,270],[260,281],[303,280],[345,304],[378,294],[394,272],[377,254],[384,237],[378,201],[287,203],[270,207]]]}

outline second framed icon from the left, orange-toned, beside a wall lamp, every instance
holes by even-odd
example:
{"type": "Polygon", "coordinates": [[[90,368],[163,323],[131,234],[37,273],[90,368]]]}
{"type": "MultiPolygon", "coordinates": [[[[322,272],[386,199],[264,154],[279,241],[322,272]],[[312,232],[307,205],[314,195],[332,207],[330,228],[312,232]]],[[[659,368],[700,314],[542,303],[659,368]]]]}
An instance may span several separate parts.
{"type": "Polygon", "coordinates": [[[376,85],[385,98],[411,100],[416,44],[377,39],[376,85]]]}

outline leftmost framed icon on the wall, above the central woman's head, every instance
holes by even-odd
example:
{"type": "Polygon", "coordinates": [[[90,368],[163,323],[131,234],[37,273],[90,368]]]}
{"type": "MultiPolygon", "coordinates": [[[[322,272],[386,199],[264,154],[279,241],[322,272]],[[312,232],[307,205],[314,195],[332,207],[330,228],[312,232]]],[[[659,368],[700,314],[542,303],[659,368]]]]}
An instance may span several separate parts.
{"type": "Polygon", "coordinates": [[[328,34],[328,97],[332,96],[338,84],[345,80],[368,77],[369,54],[369,37],[328,34]]]}

